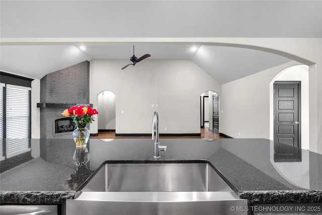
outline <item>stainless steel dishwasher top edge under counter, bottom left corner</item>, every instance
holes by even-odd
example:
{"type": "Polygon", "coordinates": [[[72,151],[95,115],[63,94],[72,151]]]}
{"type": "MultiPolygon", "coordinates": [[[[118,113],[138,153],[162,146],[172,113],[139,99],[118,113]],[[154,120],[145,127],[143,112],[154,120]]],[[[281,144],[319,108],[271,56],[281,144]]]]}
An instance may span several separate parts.
{"type": "Polygon", "coordinates": [[[58,215],[58,205],[0,205],[1,215],[58,215]]]}

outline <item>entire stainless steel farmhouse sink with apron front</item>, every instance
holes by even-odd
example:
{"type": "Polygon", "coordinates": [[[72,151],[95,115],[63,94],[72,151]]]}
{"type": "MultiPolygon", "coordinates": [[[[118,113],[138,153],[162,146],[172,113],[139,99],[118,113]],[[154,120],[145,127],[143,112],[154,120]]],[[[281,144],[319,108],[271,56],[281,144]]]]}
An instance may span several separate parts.
{"type": "Polygon", "coordinates": [[[67,214],[247,214],[207,162],[106,163],[67,200],[67,214]]]}

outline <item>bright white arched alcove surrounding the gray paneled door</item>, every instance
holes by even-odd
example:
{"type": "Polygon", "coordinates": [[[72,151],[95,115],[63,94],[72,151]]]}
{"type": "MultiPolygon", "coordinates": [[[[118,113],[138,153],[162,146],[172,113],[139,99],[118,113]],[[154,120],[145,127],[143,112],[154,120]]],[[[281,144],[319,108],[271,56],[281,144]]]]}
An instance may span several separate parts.
{"type": "MultiPolygon", "coordinates": [[[[290,91],[290,93],[292,92],[295,93],[296,91],[296,90],[293,90],[293,87],[288,87],[288,89],[289,90],[286,90],[286,89],[282,90],[281,92],[281,96],[284,96],[285,97],[284,100],[286,101],[289,100],[288,98],[289,93],[287,93],[286,91],[290,91]]],[[[309,99],[309,85],[308,85],[308,66],[307,65],[289,66],[283,69],[282,71],[280,71],[280,73],[278,73],[272,79],[272,81],[270,82],[270,139],[271,140],[282,142],[283,144],[295,145],[296,148],[299,147],[300,149],[304,149],[304,150],[309,149],[309,105],[308,105],[309,100],[308,99],[309,99]],[[276,102],[274,101],[274,96],[277,90],[277,89],[274,89],[274,85],[277,83],[300,83],[298,88],[298,97],[300,98],[298,102],[298,106],[300,107],[300,109],[298,110],[299,120],[296,120],[295,118],[296,116],[292,118],[293,117],[292,113],[280,114],[280,120],[283,121],[283,123],[286,123],[286,121],[288,121],[288,122],[292,122],[293,124],[293,126],[291,127],[284,126],[283,124],[281,124],[282,126],[280,126],[280,131],[276,127],[277,125],[275,125],[276,122],[274,121],[276,117],[279,117],[278,115],[276,116],[277,113],[276,113],[276,110],[274,110],[275,108],[278,108],[278,107],[275,107],[274,105],[276,104],[276,102]],[[275,90],[275,93],[274,93],[274,90],[275,90]],[[298,133],[299,133],[298,137],[294,137],[294,138],[298,138],[298,142],[299,142],[298,144],[296,142],[297,141],[296,139],[295,139],[295,142],[293,143],[293,141],[291,141],[293,137],[288,138],[286,134],[278,137],[274,134],[277,132],[291,133],[290,132],[291,130],[287,131],[285,129],[293,129],[293,127],[295,129],[294,132],[297,132],[296,129],[298,127],[298,133]]],[[[288,104],[291,105],[293,104],[293,102],[290,102],[290,101],[280,102],[280,105],[288,105],[288,104]]],[[[285,107],[281,106],[281,108],[285,108],[285,107]]],[[[289,107],[289,109],[292,109],[292,108],[293,107],[289,107]]],[[[282,152],[282,154],[283,153],[284,152],[282,152]]]]}

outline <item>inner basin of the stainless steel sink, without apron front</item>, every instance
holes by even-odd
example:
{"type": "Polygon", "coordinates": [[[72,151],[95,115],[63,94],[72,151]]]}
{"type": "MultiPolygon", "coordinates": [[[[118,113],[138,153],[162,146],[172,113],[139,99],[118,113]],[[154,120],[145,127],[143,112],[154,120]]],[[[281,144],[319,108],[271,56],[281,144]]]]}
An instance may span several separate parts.
{"type": "Polygon", "coordinates": [[[207,163],[105,164],[83,192],[232,191],[207,163]]]}

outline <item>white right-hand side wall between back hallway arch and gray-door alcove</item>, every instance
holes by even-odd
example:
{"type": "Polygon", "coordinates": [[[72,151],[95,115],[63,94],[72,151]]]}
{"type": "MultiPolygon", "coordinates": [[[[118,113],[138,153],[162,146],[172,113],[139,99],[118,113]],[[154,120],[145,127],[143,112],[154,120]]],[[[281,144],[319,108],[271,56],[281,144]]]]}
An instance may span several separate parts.
{"type": "Polygon", "coordinates": [[[292,61],[221,86],[220,132],[234,138],[270,138],[271,80],[292,61]],[[240,135],[239,135],[240,133],[240,135]]]}

